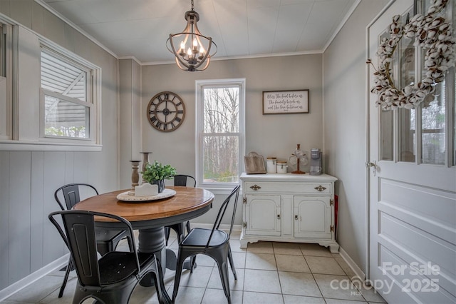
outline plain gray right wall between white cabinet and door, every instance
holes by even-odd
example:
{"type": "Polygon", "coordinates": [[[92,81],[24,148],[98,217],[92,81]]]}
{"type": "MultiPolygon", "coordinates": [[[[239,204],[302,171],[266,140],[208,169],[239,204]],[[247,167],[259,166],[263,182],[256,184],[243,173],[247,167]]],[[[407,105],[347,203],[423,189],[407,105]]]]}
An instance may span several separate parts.
{"type": "Polygon", "coordinates": [[[338,243],[366,273],[366,26],[387,1],[363,0],[323,56],[327,173],[339,178],[338,243]]]}

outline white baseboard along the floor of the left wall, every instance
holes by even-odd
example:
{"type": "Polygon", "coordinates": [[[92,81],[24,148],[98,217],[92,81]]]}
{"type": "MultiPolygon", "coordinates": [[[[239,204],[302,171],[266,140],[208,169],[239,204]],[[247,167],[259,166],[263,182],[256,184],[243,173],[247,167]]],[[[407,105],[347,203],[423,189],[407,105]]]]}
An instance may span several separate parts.
{"type": "Polygon", "coordinates": [[[62,268],[66,263],[68,263],[68,257],[70,253],[63,255],[61,258],[54,260],[53,262],[45,265],[43,268],[36,270],[34,273],[27,275],[25,278],[18,280],[16,283],[9,285],[8,287],[0,290],[0,302],[9,298],[14,293],[17,293],[22,288],[26,288],[31,283],[35,282],[36,280],[43,278],[44,275],[53,272],[58,268],[62,268]]]}

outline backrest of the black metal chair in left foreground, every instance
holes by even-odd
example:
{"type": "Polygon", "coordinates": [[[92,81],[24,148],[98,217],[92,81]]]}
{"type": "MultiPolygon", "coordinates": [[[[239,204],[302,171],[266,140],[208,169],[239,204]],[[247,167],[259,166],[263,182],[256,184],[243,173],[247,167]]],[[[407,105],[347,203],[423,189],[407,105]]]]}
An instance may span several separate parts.
{"type": "Polygon", "coordinates": [[[100,269],[98,268],[94,216],[110,218],[110,221],[113,221],[112,219],[114,219],[115,221],[122,223],[122,225],[125,225],[125,230],[130,232],[129,238],[132,242],[130,252],[134,252],[136,255],[136,265],[139,273],[140,263],[138,253],[136,253],[135,249],[136,245],[135,238],[133,238],[133,228],[130,222],[125,220],[125,218],[93,211],[71,210],[50,213],[48,218],[51,223],[56,226],[58,233],[60,233],[70,250],[81,285],[100,286],[100,269]],[[57,221],[59,216],[62,219],[63,228],[57,221]]]}

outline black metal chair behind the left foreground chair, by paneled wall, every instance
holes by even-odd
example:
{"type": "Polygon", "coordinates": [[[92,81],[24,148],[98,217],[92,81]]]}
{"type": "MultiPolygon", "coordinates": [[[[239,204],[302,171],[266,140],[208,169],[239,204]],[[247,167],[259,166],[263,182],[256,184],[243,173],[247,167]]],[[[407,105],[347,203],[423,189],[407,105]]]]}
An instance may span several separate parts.
{"type": "MultiPolygon", "coordinates": [[[[56,199],[58,206],[60,206],[62,211],[71,210],[71,208],[73,208],[76,203],[79,203],[81,201],[82,191],[89,196],[98,195],[97,189],[88,183],[70,183],[58,188],[54,192],[54,198],[56,199]],[[61,199],[65,201],[65,205],[63,205],[61,199]]],[[[127,235],[127,231],[125,230],[109,230],[100,228],[95,228],[95,233],[97,240],[97,250],[100,255],[105,255],[105,253],[114,251],[119,241],[125,238],[127,235]]],[[[130,240],[128,241],[130,242],[130,240]]],[[[73,260],[70,257],[68,260],[68,265],[66,266],[65,276],[63,277],[63,282],[58,293],[58,298],[62,297],[63,290],[65,290],[66,282],[68,280],[68,275],[70,275],[70,271],[73,269],[73,260]]]]}

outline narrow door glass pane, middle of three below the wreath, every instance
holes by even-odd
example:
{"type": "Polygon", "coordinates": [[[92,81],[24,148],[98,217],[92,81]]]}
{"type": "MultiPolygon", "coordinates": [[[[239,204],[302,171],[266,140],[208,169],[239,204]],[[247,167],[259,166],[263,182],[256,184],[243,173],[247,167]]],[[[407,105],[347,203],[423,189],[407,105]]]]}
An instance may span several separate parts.
{"type": "Polygon", "coordinates": [[[398,108],[399,114],[399,161],[415,162],[416,123],[415,110],[398,108]]]}

